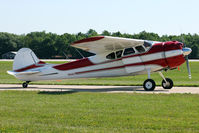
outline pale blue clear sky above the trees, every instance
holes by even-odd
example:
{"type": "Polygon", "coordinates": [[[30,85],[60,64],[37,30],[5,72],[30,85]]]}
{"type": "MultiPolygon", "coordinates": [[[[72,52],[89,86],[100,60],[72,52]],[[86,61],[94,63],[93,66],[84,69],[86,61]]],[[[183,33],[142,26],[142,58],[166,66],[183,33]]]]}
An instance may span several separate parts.
{"type": "Polygon", "coordinates": [[[0,32],[199,34],[199,0],[0,0],[0,32]]]}

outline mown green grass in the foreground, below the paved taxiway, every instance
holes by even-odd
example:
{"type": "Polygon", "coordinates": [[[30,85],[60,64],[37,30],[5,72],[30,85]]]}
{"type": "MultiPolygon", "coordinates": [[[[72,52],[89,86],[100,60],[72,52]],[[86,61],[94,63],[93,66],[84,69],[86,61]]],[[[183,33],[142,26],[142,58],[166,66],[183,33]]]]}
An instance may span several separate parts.
{"type": "Polygon", "coordinates": [[[192,94],[0,92],[0,132],[199,132],[192,94]]]}

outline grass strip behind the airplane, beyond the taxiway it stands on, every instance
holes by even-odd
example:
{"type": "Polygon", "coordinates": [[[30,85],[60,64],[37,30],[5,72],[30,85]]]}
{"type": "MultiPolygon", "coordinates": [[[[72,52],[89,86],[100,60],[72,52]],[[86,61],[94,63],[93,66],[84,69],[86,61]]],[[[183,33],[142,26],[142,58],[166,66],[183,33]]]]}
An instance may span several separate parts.
{"type": "MultiPolygon", "coordinates": [[[[49,62],[49,63],[63,63],[63,62],[49,62]]],[[[186,64],[180,67],[180,71],[172,70],[163,72],[165,77],[173,80],[175,86],[199,86],[199,62],[190,62],[192,79],[188,79],[186,64]]],[[[22,82],[15,77],[8,75],[7,70],[12,70],[12,62],[0,62],[0,84],[21,84],[22,82]]],[[[151,78],[156,81],[157,85],[161,85],[162,79],[158,73],[153,73],[151,78]]],[[[38,81],[32,84],[68,84],[68,85],[142,85],[147,75],[125,76],[114,78],[91,78],[91,79],[66,79],[57,81],[38,81]]]]}

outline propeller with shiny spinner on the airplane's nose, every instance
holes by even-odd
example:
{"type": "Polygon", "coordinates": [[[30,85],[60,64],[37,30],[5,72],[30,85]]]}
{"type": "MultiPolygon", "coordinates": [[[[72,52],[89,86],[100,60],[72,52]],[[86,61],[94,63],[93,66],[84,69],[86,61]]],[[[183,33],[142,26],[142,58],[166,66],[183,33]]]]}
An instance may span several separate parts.
{"type": "Polygon", "coordinates": [[[185,56],[185,60],[186,60],[186,65],[187,65],[187,71],[188,71],[188,75],[189,75],[189,79],[191,79],[191,69],[190,69],[190,66],[189,66],[189,58],[188,58],[188,55],[191,53],[191,49],[186,47],[186,43],[184,41],[184,37],[183,35],[181,34],[181,39],[182,39],[182,42],[184,44],[183,48],[182,48],[182,51],[183,51],[183,55],[185,56]]]}

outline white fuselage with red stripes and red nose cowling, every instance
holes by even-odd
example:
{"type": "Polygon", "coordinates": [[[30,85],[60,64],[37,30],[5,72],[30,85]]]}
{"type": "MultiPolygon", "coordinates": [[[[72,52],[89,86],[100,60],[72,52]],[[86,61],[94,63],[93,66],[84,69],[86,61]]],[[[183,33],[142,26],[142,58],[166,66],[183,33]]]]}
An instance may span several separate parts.
{"type": "MultiPolygon", "coordinates": [[[[39,62],[16,72],[40,71],[35,74],[16,74],[23,81],[54,80],[71,78],[114,77],[146,74],[160,70],[174,69],[185,62],[183,44],[177,41],[154,43],[144,52],[135,52],[119,58],[106,59],[104,55],[76,60],[64,64],[46,64],[39,62]]],[[[136,49],[135,49],[136,51],[136,49]]],[[[117,53],[117,52],[116,52],[117,53]]]]}

